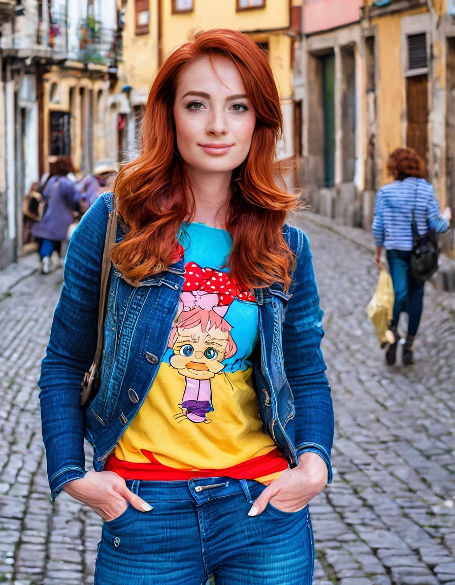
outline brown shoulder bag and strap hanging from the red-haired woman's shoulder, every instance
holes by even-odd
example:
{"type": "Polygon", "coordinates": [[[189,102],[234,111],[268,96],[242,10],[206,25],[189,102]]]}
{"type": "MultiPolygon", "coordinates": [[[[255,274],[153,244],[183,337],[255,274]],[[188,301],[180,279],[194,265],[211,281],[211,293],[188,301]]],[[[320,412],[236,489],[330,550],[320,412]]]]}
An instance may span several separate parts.
{"type": "Polygon", "coordinates": [[[82,381],[81,408],[86,408],[96,394],[101,385],[101,360],[104,350],[104,321],[108,309],[108,291],[109,278],[111,276],[111,250],[115,243],[117,233],[117,215],[115,211],[109,215],[108,227],[106,229],[106,239],[104,242],[103,260],[101,266],[101,286],[99,288],[99,311],[98,311],[98,340],[96,341],[96,352],[90,369],[82,381]]]}

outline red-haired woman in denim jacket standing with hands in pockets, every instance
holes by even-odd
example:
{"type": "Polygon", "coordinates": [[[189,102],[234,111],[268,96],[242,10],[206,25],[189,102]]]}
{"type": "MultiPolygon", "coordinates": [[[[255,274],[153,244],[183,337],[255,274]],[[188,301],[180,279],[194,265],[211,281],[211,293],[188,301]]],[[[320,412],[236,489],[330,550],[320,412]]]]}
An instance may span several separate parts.
{"type": "Polygon", "coordinates": [[[96,585],[309,585],[333,410],[308,238],[275,183],[266,56],[242,33],[199,33],[158,71],[142,128],[68,249],[40,378],[52,499],[104,519],[96,585]],[[101,388],[83,414],[115,205],[101,388]]]}

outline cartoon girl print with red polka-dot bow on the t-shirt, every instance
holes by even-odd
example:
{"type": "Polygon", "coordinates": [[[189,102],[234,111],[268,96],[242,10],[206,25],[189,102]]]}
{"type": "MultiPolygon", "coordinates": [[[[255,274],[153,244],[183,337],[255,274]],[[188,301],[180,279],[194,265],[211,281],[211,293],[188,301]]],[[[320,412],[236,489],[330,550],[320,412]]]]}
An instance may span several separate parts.
{"type": "Polygon", "coordinates": [[[213,411],[211,380],[222,372],[223,360],[237,351],[232,326],[224,317],[236,297],[249,301],[254,297],[233,284],[226,273],[202,269],[194,262],[185,269],[187,277],[168,343],[174,351],[170,364],[185,377],[181,412],[175,418],[208,424],[207,415],[213,411]]]}

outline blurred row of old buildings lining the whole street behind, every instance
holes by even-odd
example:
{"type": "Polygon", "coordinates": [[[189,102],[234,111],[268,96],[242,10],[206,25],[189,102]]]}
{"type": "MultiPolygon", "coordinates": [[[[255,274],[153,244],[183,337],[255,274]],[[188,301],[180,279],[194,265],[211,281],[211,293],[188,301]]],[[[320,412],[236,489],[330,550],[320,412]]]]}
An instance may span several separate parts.
{"type": "MultiPolygon", "coordinates": [[[[453,16],[453,0],[1,0],[0,269],[23,253],[23,199],[57,156],[78,179],[135,156],[150,83],[194,27],[235,27],[267,53],[278,157],[295,156],[313,211],[370,229],[402,145],[453,206],[453,16]]],[[[455,254],[453,232],[443,247],[455,254]]]]}

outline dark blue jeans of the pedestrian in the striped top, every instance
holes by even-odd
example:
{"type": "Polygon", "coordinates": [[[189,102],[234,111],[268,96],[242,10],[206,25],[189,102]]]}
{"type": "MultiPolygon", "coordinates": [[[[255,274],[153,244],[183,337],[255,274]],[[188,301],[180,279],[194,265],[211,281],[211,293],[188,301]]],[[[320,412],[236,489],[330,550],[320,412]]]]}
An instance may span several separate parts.
{"type": "Polygon", "coordinates": [[[390,276],[394,284],[394,321],[398,325],[399,315],[409,315],[408,335],[416,335],[423,308],[423,283],[409,274],[411,250],[387,250],[390,276]]]}

